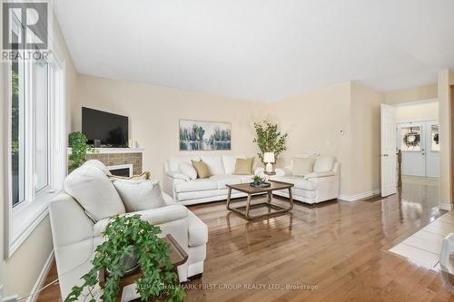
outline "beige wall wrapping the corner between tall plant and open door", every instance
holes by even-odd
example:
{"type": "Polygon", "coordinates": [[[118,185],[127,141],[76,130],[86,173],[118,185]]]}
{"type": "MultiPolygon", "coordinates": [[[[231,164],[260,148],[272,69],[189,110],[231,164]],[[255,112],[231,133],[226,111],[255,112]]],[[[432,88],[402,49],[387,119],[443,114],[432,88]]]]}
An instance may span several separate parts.
{"type": "Polygon", "coordinates": [[[341,162],[341,195],[379,189],[383,101],[383,93],[348,82],[271,103],[272,120],[289,132],[280,165],[304,151],[331,154],[341,162]]]}

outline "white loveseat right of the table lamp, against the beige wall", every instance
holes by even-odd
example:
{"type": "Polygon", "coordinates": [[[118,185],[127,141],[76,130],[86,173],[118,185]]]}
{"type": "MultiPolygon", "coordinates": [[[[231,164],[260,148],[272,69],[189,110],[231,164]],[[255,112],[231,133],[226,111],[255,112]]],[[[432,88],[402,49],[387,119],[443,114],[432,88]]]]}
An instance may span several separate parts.
{"type": "MultiPolygon", "coordinates": [[[[291,161],[290,166],[276,169],[276,175],[272,176],[271,180],[293,183],[295,185],[291,190],[293,200],[313,204],[338,198],[341,164],[334,157],[316,154],[301,154],[295,157],[313,157],[315,159],[313,172],[304,177],[293,176],[291,161]]],[[[289,198],[288,190],[277,190],[272,193],[289,198]]]]}

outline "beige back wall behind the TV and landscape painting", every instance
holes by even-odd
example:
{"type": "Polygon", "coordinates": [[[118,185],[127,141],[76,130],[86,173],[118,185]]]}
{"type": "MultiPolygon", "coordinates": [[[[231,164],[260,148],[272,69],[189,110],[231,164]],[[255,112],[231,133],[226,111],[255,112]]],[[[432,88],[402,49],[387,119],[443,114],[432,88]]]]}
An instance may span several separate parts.
{"type": "MultiPolygon", "coordinates": [[[[80,75],[77,87],[81,105],[129,116],[130,136],[145,150],[143,169],[160,180],[163,162],[173,155],[257,153],[253,122],[265,117],[264,103],[87,75],[80,75]],[[179,119],[232,122],[232,151],[179,151],[179,119]]],[[[80,105],[74,110],[73,130],[80,130],[80,105]]]]}

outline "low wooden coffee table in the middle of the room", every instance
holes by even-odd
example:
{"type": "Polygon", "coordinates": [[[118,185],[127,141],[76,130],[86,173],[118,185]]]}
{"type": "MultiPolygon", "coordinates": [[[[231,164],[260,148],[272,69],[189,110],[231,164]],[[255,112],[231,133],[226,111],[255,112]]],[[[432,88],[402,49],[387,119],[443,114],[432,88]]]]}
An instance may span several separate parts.
{"type": "Polygon", "coordinates": [[[271,183],[271,186],[268,188],[252,187],[251,184],[249,184],[249,183],[225,185],[229,189],[228,194],[227,194],[227,209],[230,209],[230,210],[234,211],[235,213],[240,214],[240,216],[242,218],[245,218],[248,220],[268,218],[271,216],[278,216],[278,215],[282,215],[282,214],[290,211],[293,208],[293,198],[291,196],[291,187],[293,187],[293,184],[288,183],[288,182],[276,181],[276,180],[270,180],[268,182],[271,183]],[[245,206],[236,207],[236,208],[231,207],[232,190],[239,190],[243,193],[248,194],[248,200],[246,201],[245,206]],[[289,203],[290,203],[289,207],[284,208],[284,207],[281,207],[280,205],[271,203],[273,190],[289,190],[289,203]],[[252,195],[263,194],[263,193],[266,193],[266,195],[267,195],[265,202],[251,204],[252,195]],[[274,209],[274,211],[272,211],[271,213],[265,213],[265,214],[261,214],[261,215],[251,215],[251,212],[250,212],[251,209],[257,209],[257,208],[274,209]]]}

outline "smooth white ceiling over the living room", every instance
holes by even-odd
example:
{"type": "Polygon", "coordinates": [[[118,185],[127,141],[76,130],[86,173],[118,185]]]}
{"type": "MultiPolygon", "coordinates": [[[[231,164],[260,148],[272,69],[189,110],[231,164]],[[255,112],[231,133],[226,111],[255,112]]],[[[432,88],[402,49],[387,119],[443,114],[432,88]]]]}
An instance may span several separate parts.
{"type": "Polygon", "coordinates": [[[454,68],[453,0],[55,0],[79,73],[271,102],[454,68]]]}

